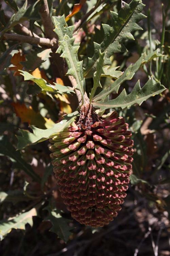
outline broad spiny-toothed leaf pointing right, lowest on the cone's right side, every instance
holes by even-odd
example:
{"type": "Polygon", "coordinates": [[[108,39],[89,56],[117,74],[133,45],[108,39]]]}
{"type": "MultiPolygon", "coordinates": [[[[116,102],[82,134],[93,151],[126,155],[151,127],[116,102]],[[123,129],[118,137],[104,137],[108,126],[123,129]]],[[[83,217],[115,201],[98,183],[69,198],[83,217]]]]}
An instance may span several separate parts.
{"type": "Polygon", "coordinates": [[[149,99],[152,96],[162,93],[166,88],[158,83],[154,83],[153,77],[151,77],[148,82],[141,88],[140,82],[138,81],[130,94],[126,94],[125,89],[119,94],[119,96],[114,100],[109,100],[107,102],[98,101],[94,106],[98,106],[101,110],[109,108],[121,108],[125,109],[134,104],[141,105],[143,101],[149,99]]]}

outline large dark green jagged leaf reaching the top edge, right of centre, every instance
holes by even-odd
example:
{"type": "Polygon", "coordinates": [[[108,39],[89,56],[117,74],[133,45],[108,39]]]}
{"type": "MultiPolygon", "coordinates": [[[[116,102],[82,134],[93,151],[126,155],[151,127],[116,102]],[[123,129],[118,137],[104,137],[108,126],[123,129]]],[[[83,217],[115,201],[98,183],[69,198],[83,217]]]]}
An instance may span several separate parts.
{"type": "Polygon", "coordinates": [[[92,77],[96,71],[99,49],[106,52],[104,65],[111,65],[109,57],[114,53],[125,52],[123,42],[127,39],[134,40],[132,32],[142,30],[137,23],[146,16],[141,13],[144,4],[141,0],[132,0],[130,4],[124,3],[119,13],[111,11],[111,24],[102,24],[103,41],[101,44],[94,42],[94,55],[88,58],[88,64],[84,70],[86,78],[92,77]]]}

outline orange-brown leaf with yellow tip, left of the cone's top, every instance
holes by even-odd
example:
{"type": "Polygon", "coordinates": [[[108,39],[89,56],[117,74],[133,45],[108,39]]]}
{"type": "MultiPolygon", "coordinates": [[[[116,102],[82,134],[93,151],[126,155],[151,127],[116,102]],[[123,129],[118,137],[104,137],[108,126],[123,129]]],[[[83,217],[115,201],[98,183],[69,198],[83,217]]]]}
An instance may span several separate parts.
{"type": "Polygon", "coordinates": [[[44,118],[40,113],[35,112],[31,106],[27,108],[25,104],[12,103],[15,113],[21,118],[22,123],[29,123],[38,128],[51,128],[54,122],[51,119],[44,118]]]}

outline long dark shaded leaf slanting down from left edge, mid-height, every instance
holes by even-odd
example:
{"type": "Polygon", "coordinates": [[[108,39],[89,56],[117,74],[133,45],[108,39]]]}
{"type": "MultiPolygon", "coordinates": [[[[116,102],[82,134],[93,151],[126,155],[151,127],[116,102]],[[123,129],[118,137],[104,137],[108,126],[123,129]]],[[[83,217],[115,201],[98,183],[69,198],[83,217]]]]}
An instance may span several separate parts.
{"type": "Polygon", "coordinates": [[[24,172],[26,172],[33,180],[40,182],[40,177],[33,171],[32,167],[21,157],[19,151],[13,147],[7,136],[0,137],[0,155],[7,156],[17,162],[24,172]]]}

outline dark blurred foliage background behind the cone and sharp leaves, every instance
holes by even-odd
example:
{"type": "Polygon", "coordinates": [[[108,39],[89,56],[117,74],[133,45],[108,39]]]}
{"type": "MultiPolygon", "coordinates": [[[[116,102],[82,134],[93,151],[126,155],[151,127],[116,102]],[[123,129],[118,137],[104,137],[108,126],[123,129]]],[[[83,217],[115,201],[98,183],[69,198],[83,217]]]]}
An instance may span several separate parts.
{"type": "MultiPolygon", "coordinates": [[[[0,29],[22,34],[18,26],[21,23],[32,34],[44,37],[39,1],[28,1],[30,7],[24,18],[9,22],[24,2],[0,1],[0,29]]],[[[73,0],[48,2],[54,16],[68,16],[73,5],[79,3],[73,0]]],[[[78,12],[67,18],[68,24],[78,22],[96,2],[87,0],[82,6],[78,5],[78,12]]],[[[85,227],[71,218],[50,165],[48,141],[16,151],[19,129],[32,131],[30,125],[52,128],[62,120],[63,114],[77,110],[77,98],[67,81],[61,78],[51,57],[51,48],[0,41],[0,225],[4,227],[0,237],[5,236],[0,242],[2,256],[170,255],[170,2],[142,2],[146,4],[143,14],[148,16],[140,22],[143,30],[135,32],[135,41],[125,42],[128,52],[112,56],[112,67],[123,72],[143,52],[150,53],[157,48],[163,56],[140,68],[132,80],[121,86],[118,94],[123,88],[130,93],[138,79],[141,86],[144,85],[151,75],[167,89],[141,106],[117,109],[133,132],[133,173],[122,211],[103,228],[85,227]],[[24,81],[18,70],[28,71],[48,84],[63,86],[63,93],[49,92],[34,81],[24,81]],[[11,221],[6,223],[9,217],[11,221]]],[[[108,23],[109,10],[117,12],[120,6],[121,1],[103,1],[79,30],[76,40],[81,42],[79,58],[84,65],[87,56],[92,54],[94,40],[100,42],[101,22],[108,23]]],[[[107,86],[113,81],[102,77],[101,84],[107,86]]],[[[91,87],[92,78],[89,78],[88,94],[91,87]]],[[[111,98],[115,96],[112,94],[111,98]]]]}

